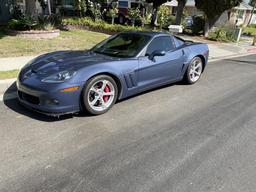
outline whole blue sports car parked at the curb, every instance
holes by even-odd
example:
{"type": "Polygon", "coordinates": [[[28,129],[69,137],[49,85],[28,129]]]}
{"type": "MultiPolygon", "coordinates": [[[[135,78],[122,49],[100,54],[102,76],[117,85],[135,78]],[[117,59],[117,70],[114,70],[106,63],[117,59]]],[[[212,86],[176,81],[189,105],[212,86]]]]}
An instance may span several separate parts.
{"type": "Polygon", "coordinates": [[[166,33],[126,31],[85,51],[58,51],[29,61],[17,78],[25,107],[51,116],[107,112],[117,99],[164,84],[198,81],[207,44],[166,33]]]}

